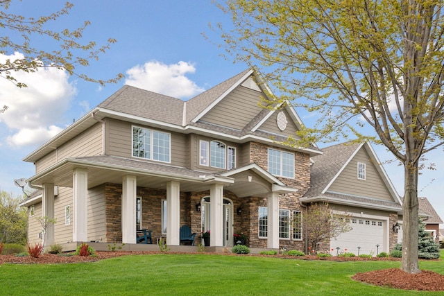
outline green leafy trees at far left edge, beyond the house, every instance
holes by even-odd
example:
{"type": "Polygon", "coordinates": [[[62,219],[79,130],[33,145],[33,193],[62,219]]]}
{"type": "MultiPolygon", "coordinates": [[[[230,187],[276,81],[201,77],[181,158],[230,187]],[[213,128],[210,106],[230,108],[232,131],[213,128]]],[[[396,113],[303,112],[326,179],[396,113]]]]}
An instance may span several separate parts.
{"type": "Polygon", "coordinates": [[[19,207],[21,196],[12,198],[6,191],[0,192],[0,243],[26,245],[28,212],[19,207]]]}

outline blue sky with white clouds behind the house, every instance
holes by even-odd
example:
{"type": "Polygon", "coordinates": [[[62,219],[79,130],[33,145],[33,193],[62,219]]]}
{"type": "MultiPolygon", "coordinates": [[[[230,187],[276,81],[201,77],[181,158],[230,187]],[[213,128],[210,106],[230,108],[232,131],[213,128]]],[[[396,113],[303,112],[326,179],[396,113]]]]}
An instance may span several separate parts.
{"type": "MultiPolygon", "coordinates": [[[[14,1],[9,12],[36,17],[48,15],[62,8],[64,1],[14,1]]],[[[221,23],[230,27],[230,17],[216,8],[211,1],[203,0],[94,0],[72,1],[74,8],[61,17],[53,28],[75,28],[83,21],[91,21],[85,31],[85,41],[105,44],[109,37],[117,39],[111,49],[80,68],[92,78],[112,78],[123,73],[126,78],[117,85],[100,87],[69,77],[63,71],[49,69],[37,73],[17,74],[28,85],[18,89],[6,80],[0,80],[0,105],[10,109],[0,114],[0,190],[21,190],[13,180],[31,177],[33,164],[22,159],[66,128],[89,110],[99,105],[124,84],[187,99],[213,87],[243,71],[248,66],[225,60],[217,44],[223,40],[212,32],[209,24],[221,23]],[[210,37],[206,40],[203,33],[210,37]]],[[[2,33],[3,34],[3,33],[2,33]]],[[[37,37],[32,40],[37,48],[51,51],[51,42],[37,37]]],[[[19,55],[8,52],[6,55],[19,55]]],[[[0,55],[0,59],[6,58],[0,55]]],[[[307,126],[312,126],[320,114],[307,114],[296,110],[307,126]]],[[[318,143],[318,146],[329,146],[318,143]]],[[[379,159],[393,159],[383,147],[373,146],[379,159]]],[[[418,195],[427,197],[444,219],[444,157],[443,149],[428,155],[436,164],[436,171],[423,171],[420,175],[418,195]]],[[[384,164],[391,181],[400,195],[403,194],[403,168],[396,162],[384,164]]]]}

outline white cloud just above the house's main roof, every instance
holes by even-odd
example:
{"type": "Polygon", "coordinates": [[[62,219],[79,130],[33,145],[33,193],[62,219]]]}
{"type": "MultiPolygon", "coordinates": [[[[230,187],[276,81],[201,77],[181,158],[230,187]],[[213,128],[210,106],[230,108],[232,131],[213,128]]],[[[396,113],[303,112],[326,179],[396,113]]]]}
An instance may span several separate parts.
{"type": "Polygon", "coordinates": [[[125,83],[166,96],[190,98],[205,91],[203,87],[199,87],[185,76],[195,71],[194,65],[188,62],[180,61],[177,64],[167,65],[151,61],[143,66],[137,65],[128,69],[125,83]]]}

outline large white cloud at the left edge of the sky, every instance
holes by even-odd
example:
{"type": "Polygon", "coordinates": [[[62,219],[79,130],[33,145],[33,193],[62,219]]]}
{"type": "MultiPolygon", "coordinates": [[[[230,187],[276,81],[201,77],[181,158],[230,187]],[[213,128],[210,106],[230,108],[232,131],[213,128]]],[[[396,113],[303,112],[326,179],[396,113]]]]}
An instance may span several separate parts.
{"type": "MultiPolygon", "coordinates": [[[[0,62],[22,57],[21,53],[0,55],[0,62]]],[[[7,142],[11,146],[44,143],[62,130],[54,123],[63,121],[76,88],[68,82],[67,72],[59,69],[39,69],[35,73],[18,71],[11,75],[28,87],[19,88],[0,78],[0,106],[8,106],[0,115],[0,122],[14,133],[8,136],[7,142]]]]}

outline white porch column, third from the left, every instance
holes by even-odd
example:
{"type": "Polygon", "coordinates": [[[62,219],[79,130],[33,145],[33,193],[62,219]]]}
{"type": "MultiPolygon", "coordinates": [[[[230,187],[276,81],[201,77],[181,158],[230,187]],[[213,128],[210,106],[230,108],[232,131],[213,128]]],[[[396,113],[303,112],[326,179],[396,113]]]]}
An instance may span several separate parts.
{"type": "Polygon", "coordinates": [[[122,179],[122,243],[136,243],[137,177],[125,175],[122,179]]]}

